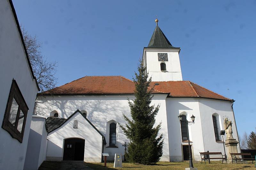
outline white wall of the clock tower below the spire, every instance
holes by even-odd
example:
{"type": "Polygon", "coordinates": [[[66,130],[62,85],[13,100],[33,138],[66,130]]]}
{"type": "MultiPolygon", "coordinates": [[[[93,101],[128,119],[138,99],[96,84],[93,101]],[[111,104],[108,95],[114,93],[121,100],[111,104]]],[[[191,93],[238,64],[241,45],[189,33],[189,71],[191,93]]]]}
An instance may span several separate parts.
{"type": "Polygon", "coordinates": [[[180,49],[144,49],[144,58],[146,60],[147,71],[152,76],[152,81],[181,81],[182,74],[180,68],[180,49]],[[158,61],[158,53],[167,53],[168,61],[166,64],[166,72],[161,71],[158,61]]]}

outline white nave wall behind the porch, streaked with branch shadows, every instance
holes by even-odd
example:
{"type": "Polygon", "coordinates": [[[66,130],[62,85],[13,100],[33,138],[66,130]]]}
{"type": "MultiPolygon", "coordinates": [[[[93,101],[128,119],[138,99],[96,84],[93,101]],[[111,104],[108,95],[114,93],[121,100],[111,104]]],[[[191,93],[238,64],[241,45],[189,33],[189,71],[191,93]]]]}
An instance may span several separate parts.
{"type": "MultiPolygon", "coordinates": [[[[104,152],[109,153],[109,160],[114,159],[115,153],[124,154],[124,142],[128,139],[117,124],[117,140],[118,148],[108,148],[109,131],[107,130],[108,122],[115,121],[125,124],[122,113],[131,118],[130,107],[127,97],[134,99],[133,95],[118,96],[39,96],[37,99],[36,112],[45,117],[49,117],[52,110],[59,113],[59,117],[68,118],[75,110],[85,110],[87,118],[92,124],[105,136],[107,145],[104,146],[104,152]]],[[[169,161],[169,143],[167,135],[167,121],[165,108],[166,95],[155,95],[152,104],[160,104],[160,110],[156,117],[156,124],[162,121],[162,128],[159,134],[164,134],[164,154],[161,160],[169,161]]],[[[50,143],[50,142],[49,142],[50,143]]],[[[51,145],[48,143],[48,146],[51,145]]]]}

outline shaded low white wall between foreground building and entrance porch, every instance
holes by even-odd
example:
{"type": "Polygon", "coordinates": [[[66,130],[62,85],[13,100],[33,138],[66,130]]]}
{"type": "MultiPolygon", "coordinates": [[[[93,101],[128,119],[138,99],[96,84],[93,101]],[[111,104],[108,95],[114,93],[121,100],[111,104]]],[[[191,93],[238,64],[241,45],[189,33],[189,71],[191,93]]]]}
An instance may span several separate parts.
{"type": "Polygon", "coordinates": [[[35,170],[46,158],[47,131],[45,128],[45,117],[33,115],[24,169],[35,170]]]}

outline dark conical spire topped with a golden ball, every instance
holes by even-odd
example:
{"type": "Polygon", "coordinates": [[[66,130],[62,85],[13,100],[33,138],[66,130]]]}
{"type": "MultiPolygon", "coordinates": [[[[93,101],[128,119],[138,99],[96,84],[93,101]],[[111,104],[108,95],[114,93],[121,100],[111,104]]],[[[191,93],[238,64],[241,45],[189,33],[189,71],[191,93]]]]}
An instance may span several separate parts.
{"type": "Polygon", "coordinates": [[[170,41],[165,37],[162,30],[157,25],[158,19],[156,19],[156,29],[148,43],[148,48],[177,48],[172,46],[170,41]]]}

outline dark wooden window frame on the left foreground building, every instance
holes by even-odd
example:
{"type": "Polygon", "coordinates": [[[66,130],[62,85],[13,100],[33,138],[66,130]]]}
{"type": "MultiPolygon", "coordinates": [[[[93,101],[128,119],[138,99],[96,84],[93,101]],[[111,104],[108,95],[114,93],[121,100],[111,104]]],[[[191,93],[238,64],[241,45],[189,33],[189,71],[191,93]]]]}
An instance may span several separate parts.
{"type": "Polygon", "coordinates": [[[4,112],[2,128],[4,130],[6,130],[12,136],[12,138],[17,139],[20,143],[22,143],[22,140],[23,140],[28,110],[29,110],[28,105],[26,104],[25,99],[20,92],[19,86],[18,86],[17,82],[13,79],[9,97],[8,97],[8,101],[7,101],[5,112],[4,112]],[[14,126],[9,121],[9,115],[10,115],[13,99],[15,99],[15,101],[17,102],[17,104],[19,106],[14,126]],[[24,114],[21,132],[19,132],[17,129],[18,123],[19,123],[20,111],[22,111],[22,113],[24,114]]]}

